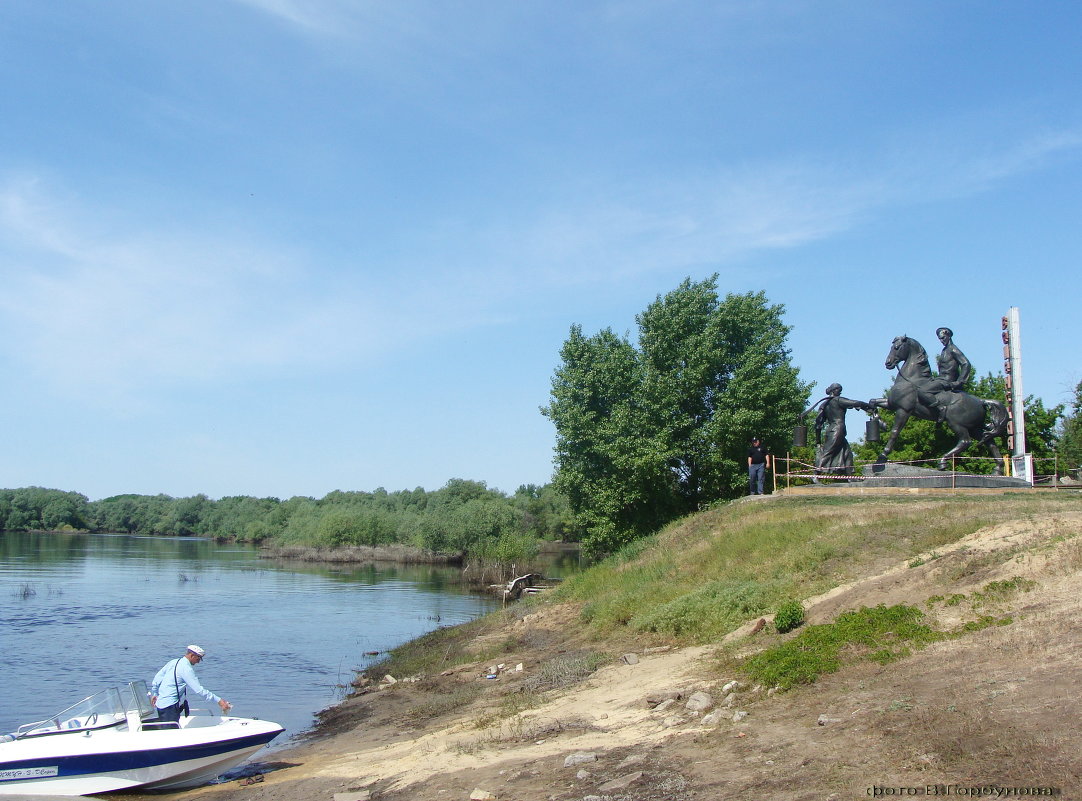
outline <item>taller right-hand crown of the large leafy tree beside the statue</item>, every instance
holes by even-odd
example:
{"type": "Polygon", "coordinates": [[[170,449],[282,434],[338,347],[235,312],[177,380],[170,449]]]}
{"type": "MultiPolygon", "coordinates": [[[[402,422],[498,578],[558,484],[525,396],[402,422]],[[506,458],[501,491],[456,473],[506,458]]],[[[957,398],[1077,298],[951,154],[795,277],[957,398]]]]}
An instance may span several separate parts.
{"type": "Polygon", "coordinates": [[[763,292],[718,300],[685,280],[638,316],[647,397],[679,513],[743,490],[747,444],[778,450],[810,386],[789,360],[784,307],[763,292]]]}

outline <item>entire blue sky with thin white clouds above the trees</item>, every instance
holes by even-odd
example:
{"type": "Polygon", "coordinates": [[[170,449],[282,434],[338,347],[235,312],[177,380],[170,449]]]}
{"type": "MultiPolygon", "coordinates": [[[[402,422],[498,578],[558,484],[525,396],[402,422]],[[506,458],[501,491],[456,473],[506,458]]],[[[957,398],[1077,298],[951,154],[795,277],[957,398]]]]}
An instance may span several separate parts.
{"type": "Polygon", "coordinates": [[[784,306],[813,399],[894,337],[1082,380],[1082,4],[4,0],[0,487],[552,477],[572,325],[784,306]]]}

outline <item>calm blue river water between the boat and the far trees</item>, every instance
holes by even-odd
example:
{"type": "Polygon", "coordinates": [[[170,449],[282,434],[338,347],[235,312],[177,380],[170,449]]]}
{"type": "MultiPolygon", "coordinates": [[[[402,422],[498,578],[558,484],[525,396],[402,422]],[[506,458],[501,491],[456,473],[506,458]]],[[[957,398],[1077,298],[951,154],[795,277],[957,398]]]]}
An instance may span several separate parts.
{"type": "Polygon", "coordinates": [[[235,714],[283,725],[281,747],[379,658],[366,652],[497,605],[456,574],[285,565],[192,538],[0,534],[0,733],[108,686],[149,685],[196,643],[203,686],[235,714]]]}

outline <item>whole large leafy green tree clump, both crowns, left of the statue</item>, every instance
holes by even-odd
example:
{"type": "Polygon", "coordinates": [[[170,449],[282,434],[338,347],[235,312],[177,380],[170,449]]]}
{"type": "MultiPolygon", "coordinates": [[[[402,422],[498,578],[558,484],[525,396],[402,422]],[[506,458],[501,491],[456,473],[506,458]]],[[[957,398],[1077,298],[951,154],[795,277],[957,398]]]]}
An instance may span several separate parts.
{"type": "Polygon", "coordinates": [[[685,280],[636,317],[638,343],[579,326],[542,409],[555,486],[594,552],[612,551],[747,484],[752,434],[780,447],[807,399],[783,307],[685,280]]]}

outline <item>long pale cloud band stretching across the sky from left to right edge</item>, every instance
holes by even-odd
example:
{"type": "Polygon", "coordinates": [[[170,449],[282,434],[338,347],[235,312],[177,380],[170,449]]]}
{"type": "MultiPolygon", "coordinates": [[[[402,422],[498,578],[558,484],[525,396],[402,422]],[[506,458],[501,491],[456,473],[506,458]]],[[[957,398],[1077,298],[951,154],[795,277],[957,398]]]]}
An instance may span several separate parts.
{"type": "MultiPolygon", "coordinates": [[[[747,165],[568,187],[564,205],[419,222],[406,252],[319,264],[270,235],[117,223],[28,180],[0,188],[6,358],[88,391],[361,369],[404,344],[506,320],[569,287],[721,270],[892,208],[949,201],[1077,157],[1082,131],[860,167],[747,165]],[[960,155],[961,154],[961,155],[960,155]]],[[[558,193],[556,193],[558,195],[558,193]]]]}

